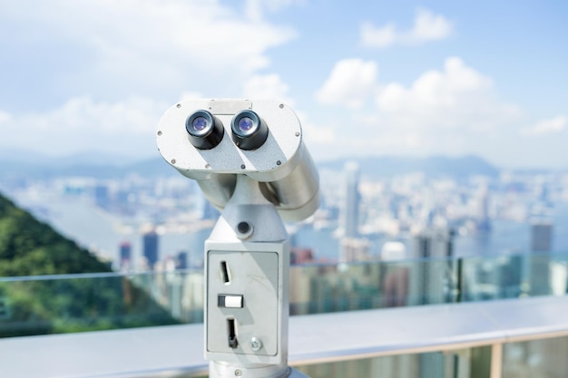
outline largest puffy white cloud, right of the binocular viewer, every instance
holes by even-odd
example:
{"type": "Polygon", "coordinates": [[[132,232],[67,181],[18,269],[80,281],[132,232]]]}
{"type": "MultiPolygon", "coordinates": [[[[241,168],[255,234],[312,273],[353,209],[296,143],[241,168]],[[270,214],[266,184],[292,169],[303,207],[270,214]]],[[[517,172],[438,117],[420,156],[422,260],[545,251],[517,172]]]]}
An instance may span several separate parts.
{"type": "Polygon", "coordinates": [[[423,73],[408,88],[387,84],[377,107],[393,125],[412,130],[487,132],[519,115],[516,107],[496,98],[489,78],[457,57],[447,58],[442,71],[423,73]]]}

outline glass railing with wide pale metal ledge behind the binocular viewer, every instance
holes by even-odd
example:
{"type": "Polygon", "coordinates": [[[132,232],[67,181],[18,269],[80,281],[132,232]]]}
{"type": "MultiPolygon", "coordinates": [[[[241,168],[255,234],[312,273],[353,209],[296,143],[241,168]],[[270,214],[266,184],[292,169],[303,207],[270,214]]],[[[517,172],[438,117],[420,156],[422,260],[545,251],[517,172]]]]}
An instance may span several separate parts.
{"type": "MultiPolygon", "coordinates": [[[[290,364],[312,378],[565,377],[567,261],[294,266],[290,364]]],[[[0,278],[0,376],[203,376],[202,303],[202,270],[0,278]]]]}

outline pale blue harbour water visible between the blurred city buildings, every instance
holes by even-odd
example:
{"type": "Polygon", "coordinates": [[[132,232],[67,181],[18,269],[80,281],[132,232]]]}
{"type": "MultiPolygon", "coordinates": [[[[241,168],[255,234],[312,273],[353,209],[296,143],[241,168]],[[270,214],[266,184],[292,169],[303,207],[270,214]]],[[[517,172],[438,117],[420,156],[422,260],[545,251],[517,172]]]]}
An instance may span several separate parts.
{"type": "MultiPolygon", "coordinates": [[[[117,218],[93,203],[80,199],[54,199],[34,202],[30,199],[16,199],[20,206],[31,210],[38,218],[50,223],[66,237],[80,246],[97,251],[103,257],[118,262],[119,246],[122,242],[132,245],[132,258],[142,256],[142,235],[138,231],[125,231],[124,219],[117,218]]],[[[568,203],[557,203],[553,214],[553,251],[568,251],[568,203]]],[[[302,225],[291,232],[294,247],[310,248],[318,260],[336,261],[339,241],[334,237],[335,228],[313,228],[302,225]]],[[[195,232],[162,234],[159,243],[160,258],[174,257],[181,251],[188,253],[189,264],[201,266],[203,243],[211,228],[195,232]]],[[[408,237],[374,235],[369,237],[369,253],[378,256],[386,241],[401,241],[409,247],[408,237]]],[[[530,223],[506,219],[493,219],[492,228],[487,232],[455,236],[455,256],[497,255],[525,252],[530,249],[530,223]]]]}

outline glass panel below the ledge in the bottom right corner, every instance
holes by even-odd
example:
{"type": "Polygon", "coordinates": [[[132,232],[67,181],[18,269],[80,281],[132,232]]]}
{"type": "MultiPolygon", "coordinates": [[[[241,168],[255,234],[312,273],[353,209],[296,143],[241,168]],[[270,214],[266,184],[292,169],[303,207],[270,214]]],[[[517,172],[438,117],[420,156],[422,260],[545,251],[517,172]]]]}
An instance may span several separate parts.
{"type": "Polygon", "coordinates": [[[568,337],[504,344],[503,378],[565,378],[568,337]]]}

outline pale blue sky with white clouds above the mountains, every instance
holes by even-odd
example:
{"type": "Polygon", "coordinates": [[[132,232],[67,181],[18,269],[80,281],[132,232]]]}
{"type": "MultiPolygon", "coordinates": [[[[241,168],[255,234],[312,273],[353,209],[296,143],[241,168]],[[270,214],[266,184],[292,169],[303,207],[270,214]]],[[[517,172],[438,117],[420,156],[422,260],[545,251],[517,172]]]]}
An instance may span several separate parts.
{"type": "Polygon", "coordinates": [[[0,0],[0,150],[159,156],[188,97],[289,102],[315,160],[568,167],[568,3],[0,0]]]}

